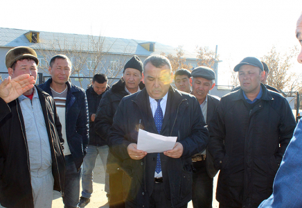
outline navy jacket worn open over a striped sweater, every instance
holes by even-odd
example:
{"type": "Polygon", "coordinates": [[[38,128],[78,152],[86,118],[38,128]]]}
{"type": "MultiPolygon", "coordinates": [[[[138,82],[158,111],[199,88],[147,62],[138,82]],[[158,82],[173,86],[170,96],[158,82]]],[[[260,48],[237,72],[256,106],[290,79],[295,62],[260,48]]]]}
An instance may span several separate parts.
{"type": "MultiPolygon", "coordinates": [[[[39,87],[53,96],[51,93],[51,82],[52,79],[49,78],[46,83],[39,85],[39,87]]],[[[87,153],[89,143],[87,98],[84,89],[69,82],[66,85],[68,87],[65,114],[66,138],[75,167],[79,170],[87,153]]]]}

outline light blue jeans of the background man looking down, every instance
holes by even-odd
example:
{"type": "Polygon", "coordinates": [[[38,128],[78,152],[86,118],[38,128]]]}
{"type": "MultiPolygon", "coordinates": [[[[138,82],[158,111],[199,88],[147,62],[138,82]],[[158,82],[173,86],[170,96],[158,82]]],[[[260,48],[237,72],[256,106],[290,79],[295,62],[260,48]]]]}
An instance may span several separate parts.
{"type": "Polygon", "coordinates": [[[106,173],[106,164],[108,156],[108,146],[92,146],[87,148],[87,154],[84,157],[82,168],[82,197],[90,198],[93,192],[93,170],[96,165],[96,158],[100,155],[105,170],[105,191],[109,193],[109,175],[106,173]]]}

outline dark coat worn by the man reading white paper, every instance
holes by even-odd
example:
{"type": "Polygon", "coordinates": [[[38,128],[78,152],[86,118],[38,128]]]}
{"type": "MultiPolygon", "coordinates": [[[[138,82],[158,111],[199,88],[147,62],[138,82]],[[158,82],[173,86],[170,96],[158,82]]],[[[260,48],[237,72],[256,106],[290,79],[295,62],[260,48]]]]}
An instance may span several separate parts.
{"type": "MultiPolygon", "coordinates": [[[[172,207],[184,206],[192,198],[191,156],[206,148],[208,130],[204,125],[202,110],[196,98],[170,87],[161,135],[177,137],[177,141],[184,147],[184,153],[178,159],[161,153],[163,194],[171,200],[172,207]]],[[[127,203],[131,207],[148,208],[157,153],[150,153],[140,160],[130,158],[127,146],[137,142],[139,127],[157,133],[146,89],[126,96],[118,105],[109,135],[109,147],[123,161],[122,168],[126,173],[123,189],[129,192],[127,203]]]]}

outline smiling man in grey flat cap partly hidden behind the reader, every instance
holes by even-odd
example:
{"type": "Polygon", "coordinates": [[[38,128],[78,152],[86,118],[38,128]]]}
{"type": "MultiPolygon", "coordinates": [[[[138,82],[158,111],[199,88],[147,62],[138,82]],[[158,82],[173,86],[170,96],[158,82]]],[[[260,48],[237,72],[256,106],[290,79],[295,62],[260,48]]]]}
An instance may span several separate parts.
{"type": "MultiPolygon", "coordinates": [[[[197,98],[204,120],[208,123],[220,101],[217,96],[208,92],[215,86],[215,72],[208,67],[197,67],[192,71],[190,85],[192,94],[197,98]]],[[[213,177],[217,171],[213,166],[213,157],[207,150],[192,157],[193,167],[193,207],[211,208],[213,200],[213,177]]]]}

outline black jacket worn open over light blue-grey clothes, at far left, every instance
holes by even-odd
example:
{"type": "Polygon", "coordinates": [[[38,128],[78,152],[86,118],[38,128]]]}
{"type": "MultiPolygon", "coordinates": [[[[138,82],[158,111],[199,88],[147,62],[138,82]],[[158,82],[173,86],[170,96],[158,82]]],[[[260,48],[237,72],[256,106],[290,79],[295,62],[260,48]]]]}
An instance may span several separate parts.
{"type": "MultiPolygon", "coordinates": [[[[53,98],[37,87],[51,146],[56,191],[64,191],[65,160],[61,123],[53,98]]],[[[3,207],[34,208],[24,119],[18,99],[6,104],[0,98],[0,203],[3,207]]]]}

